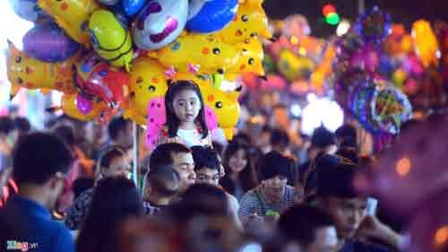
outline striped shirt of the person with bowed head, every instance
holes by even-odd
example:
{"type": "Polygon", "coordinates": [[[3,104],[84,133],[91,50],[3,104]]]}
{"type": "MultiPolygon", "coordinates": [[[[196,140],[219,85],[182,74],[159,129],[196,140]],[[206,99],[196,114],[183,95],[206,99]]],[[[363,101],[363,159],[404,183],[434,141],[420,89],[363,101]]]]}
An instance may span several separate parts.
{"type": "Polygon", "coordinates": [[[243,220],[245,217],[257,213],[266,215],[269,211],[283,212],[295,204],[296,188],[287,186],[285,194],[279,203],[271,203],[262,193],[262,187],[255,187],[248,191],[239,201],[238,215],[243,220]]]}

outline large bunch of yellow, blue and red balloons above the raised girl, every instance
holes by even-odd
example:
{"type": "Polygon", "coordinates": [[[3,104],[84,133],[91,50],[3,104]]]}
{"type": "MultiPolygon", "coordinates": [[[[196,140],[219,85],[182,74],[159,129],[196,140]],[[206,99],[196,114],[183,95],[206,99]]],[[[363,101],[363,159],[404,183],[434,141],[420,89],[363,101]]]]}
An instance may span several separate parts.
{"type": "Polygon", "coordinates": [[[35,23],[23,51],[10,45],[13,90],[63,91],[61,109],[78,119],[106,122],[123,109],[145,125],[150,101],[164,96],[168,81],[187,78],[202,83],[208,102],[220,101],[211,111],[229,132],[238,101],[213,86],[211,75],[230,82],[264,75],[259,38],[271,39],[271,32],[263,0],[10,2],[35,23]]]}

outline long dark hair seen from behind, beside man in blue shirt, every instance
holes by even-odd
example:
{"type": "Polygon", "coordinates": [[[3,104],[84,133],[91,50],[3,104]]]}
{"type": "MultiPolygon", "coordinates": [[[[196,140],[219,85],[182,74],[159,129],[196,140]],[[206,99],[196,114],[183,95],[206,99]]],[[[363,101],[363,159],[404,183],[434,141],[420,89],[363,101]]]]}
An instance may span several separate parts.
{"type": "Polygon", "coordinates": [[[82,224],[76,251],[116,251],[119,225],[126,217],[142,215],[142,207],[133,181],[123,177],[100,179],[82,224]]]}

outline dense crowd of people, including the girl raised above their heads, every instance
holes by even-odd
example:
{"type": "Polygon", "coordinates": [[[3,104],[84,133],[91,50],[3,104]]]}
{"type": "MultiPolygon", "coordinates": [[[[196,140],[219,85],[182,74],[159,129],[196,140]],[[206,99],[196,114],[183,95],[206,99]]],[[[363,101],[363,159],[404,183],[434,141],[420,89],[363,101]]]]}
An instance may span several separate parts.
{"type": "Polygon", "coordinates": [[[309,139],[281,126],[245,126],[217,142],[197,87],[184,86],[168,90],[167,134],[143,152],[137,183],[123,117],[107,127],[58,117],[44,131],[0,117],[2,244],[45,252],[380,252],[406,241],[399,225],[380,221],[381,202],[353,186],[372,162],[360,155],[354,126],[335,134],[321,126],[309,139]]]}

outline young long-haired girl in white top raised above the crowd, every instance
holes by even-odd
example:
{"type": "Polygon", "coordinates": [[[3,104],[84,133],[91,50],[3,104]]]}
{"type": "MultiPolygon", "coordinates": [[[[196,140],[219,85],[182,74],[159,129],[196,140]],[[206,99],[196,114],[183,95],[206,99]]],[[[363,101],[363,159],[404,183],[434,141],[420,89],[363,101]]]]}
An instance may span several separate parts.
{"type": "Polygon", "coordinates": [[[196,83],[171,83],[165,94],[165,108],[167,128],[162,134],[161,143],[183,143],[188,148],[195,145],[211,146],[202,94],[196,83]]]}

